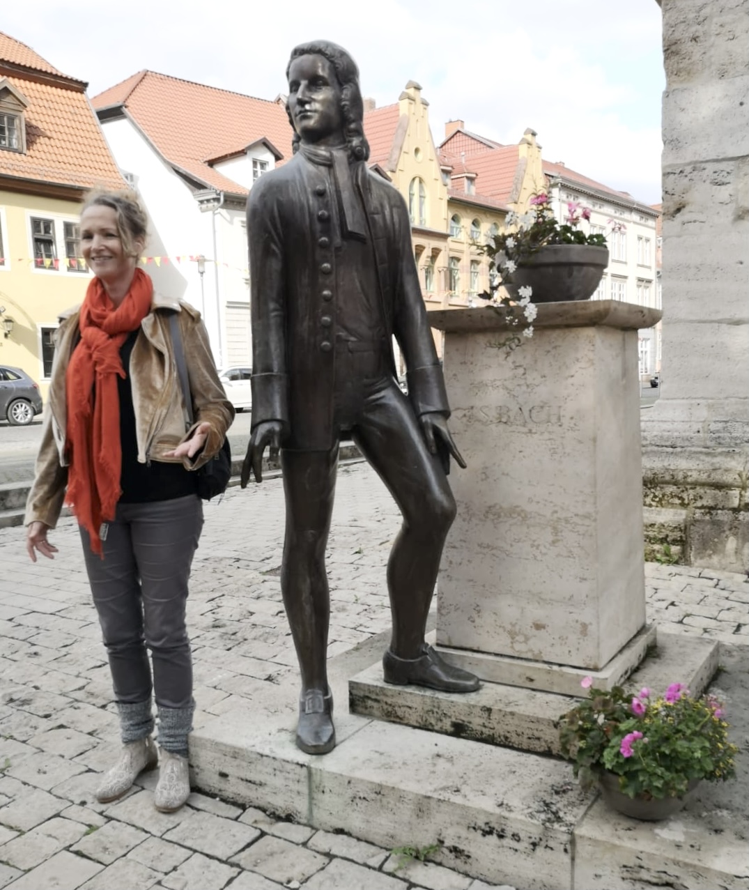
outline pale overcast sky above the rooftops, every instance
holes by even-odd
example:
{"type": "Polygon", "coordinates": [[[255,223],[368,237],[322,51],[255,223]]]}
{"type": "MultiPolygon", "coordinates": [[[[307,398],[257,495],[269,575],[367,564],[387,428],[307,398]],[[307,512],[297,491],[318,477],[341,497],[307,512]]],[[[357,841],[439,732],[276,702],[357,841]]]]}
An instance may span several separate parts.
{"type": "MultiPolygon", "coordinates": [[[[3,2],[0,30],[89,95],[141,69],[262,99],[286,91],[294,44],[324,37],[358,62],[362,92],[398,101],[408,80],[445,122],[498,142],[538,134],[544,158],[660,201],[664,89],[656,0],[46,0],[3,2]]],[[[210,121],[206,121],[210,125],[210,121]]]]}

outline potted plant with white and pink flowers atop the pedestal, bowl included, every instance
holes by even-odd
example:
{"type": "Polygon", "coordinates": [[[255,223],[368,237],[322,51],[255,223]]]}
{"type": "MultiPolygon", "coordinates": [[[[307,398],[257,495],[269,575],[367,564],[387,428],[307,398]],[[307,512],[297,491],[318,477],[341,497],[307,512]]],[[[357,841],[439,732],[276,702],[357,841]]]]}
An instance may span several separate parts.
{"type": "Polygon", "coordinates": [[[511,300],[520,287],[531,289],[534,303],[589,299],[608,266],[606,237],[580,228],[590,208],[570,201],[567,222],[560,223],[547,194],[531,198],[529,206],[527,214],[507,214],[507,231],[484,247],[495,273],[486,296],[503,286],[511,300]]]}

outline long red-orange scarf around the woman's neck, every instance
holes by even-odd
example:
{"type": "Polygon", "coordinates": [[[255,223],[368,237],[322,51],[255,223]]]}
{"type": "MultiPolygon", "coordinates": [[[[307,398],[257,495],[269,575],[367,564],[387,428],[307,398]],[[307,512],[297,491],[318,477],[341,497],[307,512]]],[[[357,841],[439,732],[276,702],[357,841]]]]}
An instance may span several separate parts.
{"type": "Polygon", "coordinates": [[[81,341],[65,376],[68,405],[68,493],[65,503],[101,555],[101,523],[115,518],[122,443],[117,376],[125,377],[119,351],[149,314],[153,283],[136,269],[125,299],[115,308],[101,279],[91,281],[81,306],[81,341]]]}

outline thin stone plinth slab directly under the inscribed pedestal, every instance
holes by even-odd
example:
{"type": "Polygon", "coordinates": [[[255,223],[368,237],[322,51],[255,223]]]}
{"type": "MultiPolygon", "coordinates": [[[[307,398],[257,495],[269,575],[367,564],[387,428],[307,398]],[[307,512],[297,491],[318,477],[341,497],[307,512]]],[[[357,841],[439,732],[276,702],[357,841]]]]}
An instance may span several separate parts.
{"type": "Polygon", "coordinates": [[[645,658],[648,649],[656,645],[656,626],[648,625],[634,635],[608,664],[598,671],[583,667],[554,665],[546,661],[513,659],[508,655],[490,655],[487,652],[470,652],[438,646],[439,653],[451,664],[463,667],[489,683],[506,686],[522,686],[538,692],[555,692],[558,695],[579,695],[580,681],[592,676],[593,685],[599,689],[611,689],[624,683],[632,671],[645,658]]]}

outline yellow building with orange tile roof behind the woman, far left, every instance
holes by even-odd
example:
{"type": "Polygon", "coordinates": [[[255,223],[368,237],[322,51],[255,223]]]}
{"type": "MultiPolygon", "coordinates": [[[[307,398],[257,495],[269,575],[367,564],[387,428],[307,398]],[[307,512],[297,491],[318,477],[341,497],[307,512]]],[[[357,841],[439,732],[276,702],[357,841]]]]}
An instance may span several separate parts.
{"type": "Polygon", "coordinates": [[[0,364],[46,395],[60,312],[81,303],[86,190],[122,189],[86,84],[0,33],[0,364]]]}

